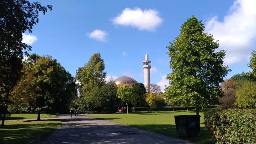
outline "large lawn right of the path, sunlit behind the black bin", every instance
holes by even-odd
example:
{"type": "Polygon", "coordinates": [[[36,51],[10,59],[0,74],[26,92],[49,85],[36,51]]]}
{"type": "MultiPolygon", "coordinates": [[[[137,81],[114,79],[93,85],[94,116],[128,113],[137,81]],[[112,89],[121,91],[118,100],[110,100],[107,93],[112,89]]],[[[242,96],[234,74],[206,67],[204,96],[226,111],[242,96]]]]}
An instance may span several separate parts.
{"type": "MultiPolygon", "coordinates": [[[[160,111],[159,113],[153,112],[132,112],[127,114],[96,114],[90,115],[91,118],[97,118],[101,120],[108,120],[111,122],[116,122],[120,124],[126,124],[134,126],[136,128],[141,128],[143,130],[149,130],[159,134],[164,134],[166,136],[171,136],[178,138],[176,133],[176,126],[174,115],[186,115],[186,114],[196,114],[194,110],[192,111],[160,111]]],[[[200,136],[198,137],[188,137],[188,141],[195,142],[197,144],[211,144],[210,134],[204,128],[204,113],[200,112],[200,136]]],[[[185,138],[181,138],[185,139],[185,138]]]]}

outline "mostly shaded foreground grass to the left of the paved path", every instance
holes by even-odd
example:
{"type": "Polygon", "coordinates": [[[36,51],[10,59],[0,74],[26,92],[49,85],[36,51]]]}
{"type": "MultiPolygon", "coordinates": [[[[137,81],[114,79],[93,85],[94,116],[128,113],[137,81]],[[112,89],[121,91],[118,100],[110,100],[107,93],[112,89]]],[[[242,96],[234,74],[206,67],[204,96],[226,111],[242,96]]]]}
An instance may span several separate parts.
{"type": "Polygon", "coordinates": [[[54,130],[59,128],[61,124],[62,122],[60,120],[5,121],[4,128],[0,128],[0,143],[42,143],[54,130]]]}

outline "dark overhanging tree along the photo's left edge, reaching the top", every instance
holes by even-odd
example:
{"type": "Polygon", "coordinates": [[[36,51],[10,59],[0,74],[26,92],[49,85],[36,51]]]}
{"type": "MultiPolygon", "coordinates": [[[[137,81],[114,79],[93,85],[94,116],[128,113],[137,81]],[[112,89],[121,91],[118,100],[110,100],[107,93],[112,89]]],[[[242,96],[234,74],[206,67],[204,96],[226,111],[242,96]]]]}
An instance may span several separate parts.
{"type": "Polygon", "coordinates": [[[28,0],[1,0],[0,1],[0,104],[4,105],[4,116],[1,128],[4,127],[6,109],[10,103],[11,89],[20,78],[22,69],[23,51],[31,46],[22,43],[22,33],[39,22],[39,12],[45,14],[52,6],[41,6],[40,2],[28,0]]]}

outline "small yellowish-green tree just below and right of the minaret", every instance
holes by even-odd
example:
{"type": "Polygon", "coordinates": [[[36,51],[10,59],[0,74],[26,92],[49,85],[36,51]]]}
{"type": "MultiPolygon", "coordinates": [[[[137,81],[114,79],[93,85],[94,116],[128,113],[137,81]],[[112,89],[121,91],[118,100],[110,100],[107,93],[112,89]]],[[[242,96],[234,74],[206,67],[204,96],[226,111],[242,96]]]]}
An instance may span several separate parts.
{"type": "Polygon", "coordinates": [[[164,95],[162,94],[148,93],[146,101],[151,108],[156,108],[157,112],[165,106],[164,95]]]}

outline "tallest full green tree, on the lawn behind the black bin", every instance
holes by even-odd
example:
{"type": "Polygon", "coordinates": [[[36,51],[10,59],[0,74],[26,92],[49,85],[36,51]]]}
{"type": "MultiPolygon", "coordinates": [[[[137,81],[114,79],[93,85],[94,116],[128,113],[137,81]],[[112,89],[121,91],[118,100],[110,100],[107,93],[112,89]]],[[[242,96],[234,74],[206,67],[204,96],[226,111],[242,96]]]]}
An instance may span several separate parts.
{"type": "Polygon", "coordinates": [[[225,51],[216,51],[218,41],[204,33],[202,21],[195,16],[181,27],[180,36],[167,47],[172,73],[167,75],[168,99],[199,106],[214,104],[222,96],[220,83],[230,71],[223,65],[225,51]]]}

